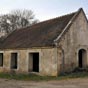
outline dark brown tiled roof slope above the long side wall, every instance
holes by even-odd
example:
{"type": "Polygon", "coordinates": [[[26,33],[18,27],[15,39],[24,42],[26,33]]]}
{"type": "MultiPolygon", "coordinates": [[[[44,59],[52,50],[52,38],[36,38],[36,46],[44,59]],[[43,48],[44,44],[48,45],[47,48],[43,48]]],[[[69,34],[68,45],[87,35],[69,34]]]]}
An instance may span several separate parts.
{"type": "Polygon", "coordinates": [[[77,12],[15,30],[1,42],[0,48],[16,49],[53,46],[54,39],[60,35],[76,13],[77,12]]]}

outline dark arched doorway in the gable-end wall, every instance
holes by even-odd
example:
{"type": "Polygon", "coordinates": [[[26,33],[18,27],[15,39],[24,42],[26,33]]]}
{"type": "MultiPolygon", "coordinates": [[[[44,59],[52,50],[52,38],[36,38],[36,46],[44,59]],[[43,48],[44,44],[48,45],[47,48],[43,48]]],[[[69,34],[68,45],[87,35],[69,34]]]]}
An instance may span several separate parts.
{"type": "Polygon", "coordinates": [[[78,52],[78,66],[84,68],[87,65],[87,53],[85,49],[80,49],[78,52]]]}

